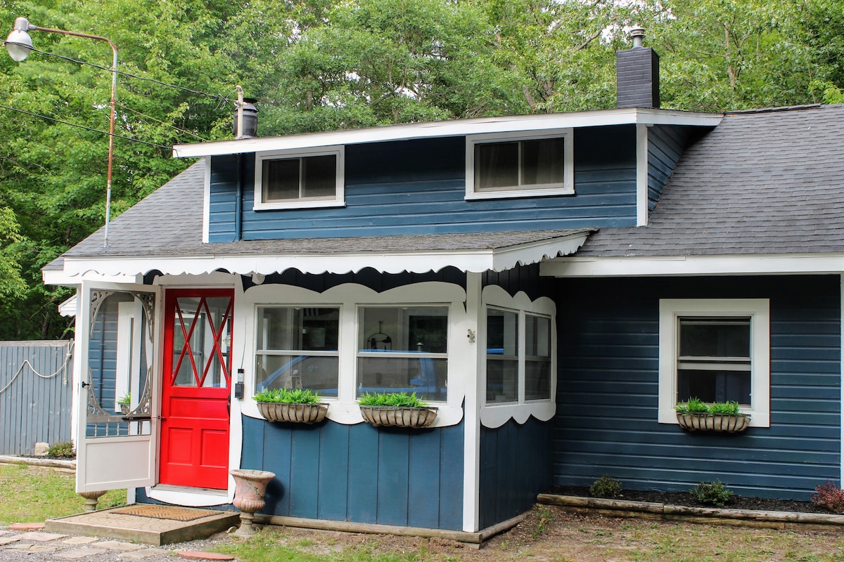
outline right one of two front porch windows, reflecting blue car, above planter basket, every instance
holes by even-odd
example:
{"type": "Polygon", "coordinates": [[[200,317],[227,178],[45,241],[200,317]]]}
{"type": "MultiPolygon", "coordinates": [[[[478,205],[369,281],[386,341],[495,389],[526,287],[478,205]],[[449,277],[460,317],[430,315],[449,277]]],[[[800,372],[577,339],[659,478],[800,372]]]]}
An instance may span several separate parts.
{"type": "Polygon", "coordinates": [[[357,398],[365,393],[448,396],[448,307],[358,307],[357,398]]]}

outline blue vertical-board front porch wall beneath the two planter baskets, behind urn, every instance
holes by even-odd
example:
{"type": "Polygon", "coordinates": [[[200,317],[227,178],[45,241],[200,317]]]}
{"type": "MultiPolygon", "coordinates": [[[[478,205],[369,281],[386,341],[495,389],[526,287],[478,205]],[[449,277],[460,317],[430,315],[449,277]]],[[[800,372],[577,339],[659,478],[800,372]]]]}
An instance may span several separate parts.
{"type": "Polygon", "coordinates": [[[270,515],[463,527],[463,424],[408,431],[244,417],[241,467],[276,474],[270,515]]]}

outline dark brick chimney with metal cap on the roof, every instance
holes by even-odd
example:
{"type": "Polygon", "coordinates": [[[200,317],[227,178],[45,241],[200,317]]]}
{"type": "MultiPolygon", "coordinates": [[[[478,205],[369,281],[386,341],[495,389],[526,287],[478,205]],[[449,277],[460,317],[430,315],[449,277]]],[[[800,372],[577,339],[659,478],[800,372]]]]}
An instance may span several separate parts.
{"type": "Polygon", "coordinates": [[[641,45],[645,29],[630,29],[633,48],[615,53],[616,107],[659,107],[659,55],[641,45]]]}

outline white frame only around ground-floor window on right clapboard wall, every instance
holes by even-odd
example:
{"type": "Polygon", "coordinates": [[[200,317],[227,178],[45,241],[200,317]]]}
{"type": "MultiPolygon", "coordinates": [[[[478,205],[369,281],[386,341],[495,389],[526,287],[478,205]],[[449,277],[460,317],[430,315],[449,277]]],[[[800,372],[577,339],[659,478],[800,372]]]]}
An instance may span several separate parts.
{"type": "Polygon", "coordinates": [[[771,301],[767,298],[663,298],[659,301],[658,415],[661,424],[678,424],[678,318],[684,316],[750,318],[751,427],[771,426],[771,301]]]}

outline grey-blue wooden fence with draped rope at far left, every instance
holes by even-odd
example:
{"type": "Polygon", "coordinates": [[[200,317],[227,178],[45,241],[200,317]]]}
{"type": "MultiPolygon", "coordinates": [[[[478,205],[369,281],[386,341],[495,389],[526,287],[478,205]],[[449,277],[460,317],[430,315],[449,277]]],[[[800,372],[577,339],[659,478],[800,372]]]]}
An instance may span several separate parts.
{"type": "Polygon", "coordinates": [[[0,341],[0,454],[31,455],[36,442],[71,440],[71,345],[0,341]]]}

